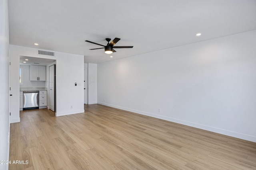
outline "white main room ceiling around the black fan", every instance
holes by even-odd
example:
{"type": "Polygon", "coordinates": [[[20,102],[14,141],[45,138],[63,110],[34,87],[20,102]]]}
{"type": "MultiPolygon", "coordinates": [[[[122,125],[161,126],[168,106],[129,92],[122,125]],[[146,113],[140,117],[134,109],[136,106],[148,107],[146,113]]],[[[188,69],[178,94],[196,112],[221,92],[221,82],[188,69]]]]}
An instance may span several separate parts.
{"type": "Polygon", "coordinates": [[[256,0],[8,0],[10,44],[102,63],[256,29],[256,0]],[[200,37],[195,34],[201,32],[200,37]],[[113,58],[101,46],[121,38],[113,58]],[[38,43],[35,46],[34,43],[38,43]]]}

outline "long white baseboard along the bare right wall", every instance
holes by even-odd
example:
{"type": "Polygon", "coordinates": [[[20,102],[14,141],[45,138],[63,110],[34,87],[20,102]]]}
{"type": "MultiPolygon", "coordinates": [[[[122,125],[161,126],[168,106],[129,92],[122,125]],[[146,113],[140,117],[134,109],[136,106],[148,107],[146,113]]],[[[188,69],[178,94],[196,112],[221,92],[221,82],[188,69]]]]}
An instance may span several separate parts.
{"type": "Polygon", "coordinates": [[[104,105],[104,106],[109,106],[109,107],[114,107],[114,108],[122,109],[122,110],[126,110],[126,111],[130,111],[130,112],[134,112],[134,113],[138,113],[138,114],[141,114],[141,115],[155,117],[155,118],[158,118],[158,119],[163,119],[163,120],[171,121],[171,122],[174,122],[174,123],[179,123],[179,124],[182,124],[182,125],[196,127],[198,129],[203,129],[203,130],[206,130],[206,131],[220,133],[222,135],[227,135],[227,136],[236,137],[236,138],[239,138],[239,139],[244,139],[246,141],[256,142],[256,136],[237,133],[237,132],[234,132],[234,131],[228,131],[228,130],[225,130],[225,129],[219,129],[219,128],[216,128],[216,127],[210,127],[210,126],[207,126],[207,125],[201,125],[201,124],[198,124],[198,123],[193,123],[193,122],[189,122],[189,121],[175,119],[175,118],[172,118],[172,117],[156,115],[156,114],[153,114],[153,113],[148,113],[148,112],[140,111],[140,110],[136,110],[136,109],[130,109],[130,108],[126,108],[126,107],[115,106],[115,105],[112,105],[112,104],[107,104],[107,103],[102,103],[102,102],[98,102],[98,104],[101,104],[101,105],[104,105]]]}

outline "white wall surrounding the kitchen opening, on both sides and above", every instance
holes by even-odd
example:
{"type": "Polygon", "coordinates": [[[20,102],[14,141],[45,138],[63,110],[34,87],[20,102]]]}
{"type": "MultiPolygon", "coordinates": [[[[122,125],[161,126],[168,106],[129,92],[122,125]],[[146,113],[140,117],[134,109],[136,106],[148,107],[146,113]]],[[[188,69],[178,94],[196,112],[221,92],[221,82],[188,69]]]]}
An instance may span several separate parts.
{"type": "Polygon", "coordinates": [[[10,103],[11,123],[20,121],[18,82],[20,55],[56,59],[56,116],[84,112],[82,85],[84,56],[55,52],[56,57],[48,57],[37,55],[37,49],[34,48],[10,45],[10,86],[11,93],[14,94],[10,103]],[[75,82],[80,83],[81,86],[74,86],[75,82]]]}

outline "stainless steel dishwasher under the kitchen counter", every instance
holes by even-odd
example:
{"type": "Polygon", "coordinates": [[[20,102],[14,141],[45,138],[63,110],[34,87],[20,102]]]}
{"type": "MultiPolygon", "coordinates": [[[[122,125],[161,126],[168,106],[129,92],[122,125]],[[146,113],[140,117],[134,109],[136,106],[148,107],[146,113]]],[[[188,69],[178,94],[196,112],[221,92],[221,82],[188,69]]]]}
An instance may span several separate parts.
{"type": "Polygon", "coordinates": [[[39,91],[23,91],[23,110],[39,109],[39,91]]]}

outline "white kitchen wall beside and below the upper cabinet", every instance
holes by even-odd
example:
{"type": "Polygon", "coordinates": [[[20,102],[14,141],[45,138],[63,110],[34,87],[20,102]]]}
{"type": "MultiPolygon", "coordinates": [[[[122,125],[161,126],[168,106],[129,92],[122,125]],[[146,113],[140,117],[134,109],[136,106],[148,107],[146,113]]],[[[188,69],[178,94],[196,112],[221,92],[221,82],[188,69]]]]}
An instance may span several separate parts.
{"type": "Polygon", "coordinates": [[[46,87],[46,81],[30,81],[30,66],[20,65],[22,67],[22,84],[20,88],[46,87]]]}

